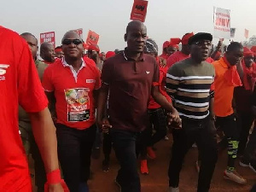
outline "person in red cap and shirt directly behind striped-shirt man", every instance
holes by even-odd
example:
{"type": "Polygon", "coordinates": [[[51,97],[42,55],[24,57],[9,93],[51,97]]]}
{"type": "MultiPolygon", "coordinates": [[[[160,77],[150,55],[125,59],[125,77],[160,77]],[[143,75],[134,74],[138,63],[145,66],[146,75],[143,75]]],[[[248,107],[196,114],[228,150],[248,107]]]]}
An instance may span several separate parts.
{"type": "Polygon", "coordinates": [[[178,61],[183,61],[189,58],[189,38],[194,35],[193,32],[186,33],[181,42],[182,42],[182,49],[181,51],[176,51],[174,54],[168,57],[167,59],[167,67],[172,67],[172,65],[178,61]]]}

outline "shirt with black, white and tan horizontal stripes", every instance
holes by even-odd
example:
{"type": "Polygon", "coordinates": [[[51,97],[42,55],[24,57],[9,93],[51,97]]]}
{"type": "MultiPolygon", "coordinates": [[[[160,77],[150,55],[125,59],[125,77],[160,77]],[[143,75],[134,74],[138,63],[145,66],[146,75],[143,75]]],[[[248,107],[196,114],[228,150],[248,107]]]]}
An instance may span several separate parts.
{"type": "Polygon", "coordinates": [[[214,96],[214,67],[207,61],[195,63],[191,58],[177,62],[166,74],[166,91],[172,96],[181,117],[205,119],[214,96]]]}

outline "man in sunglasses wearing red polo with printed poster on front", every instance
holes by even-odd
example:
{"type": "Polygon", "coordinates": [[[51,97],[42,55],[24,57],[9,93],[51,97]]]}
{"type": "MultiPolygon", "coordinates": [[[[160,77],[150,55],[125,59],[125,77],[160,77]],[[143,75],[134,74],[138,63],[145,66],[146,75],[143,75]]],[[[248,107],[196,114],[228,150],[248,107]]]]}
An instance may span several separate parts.
{"type": "Polygon", "coordinates": [[[64,57],[45,70],[43,86],[50,105],[56,108],[58,155],[64,180],[71,192],[87,192],[100,72],[90,59],[82,58],[83,42],[76,32],[67,32],[61,42],[64,57]]]}

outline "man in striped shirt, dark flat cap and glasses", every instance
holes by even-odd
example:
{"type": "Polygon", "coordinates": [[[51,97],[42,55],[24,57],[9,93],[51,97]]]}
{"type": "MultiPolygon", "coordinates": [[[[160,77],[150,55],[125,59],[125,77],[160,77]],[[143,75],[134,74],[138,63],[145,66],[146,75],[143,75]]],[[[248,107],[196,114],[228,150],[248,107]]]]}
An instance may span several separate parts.
{"type": "Polygon", "coordinates": [[[197,191],[210,188],[217,161],[216,131],[212,112],[214,67],[207,63],[212,35],[197,33],[189,38],[191,57],[177,62],[166,75],[166,90],[183,120],[181,129],[174,129],[172,160],[169,165],[169,191],[178,192],[179,172],[183,158],[193,143],[201,153],[201,169],[197,191]]]}

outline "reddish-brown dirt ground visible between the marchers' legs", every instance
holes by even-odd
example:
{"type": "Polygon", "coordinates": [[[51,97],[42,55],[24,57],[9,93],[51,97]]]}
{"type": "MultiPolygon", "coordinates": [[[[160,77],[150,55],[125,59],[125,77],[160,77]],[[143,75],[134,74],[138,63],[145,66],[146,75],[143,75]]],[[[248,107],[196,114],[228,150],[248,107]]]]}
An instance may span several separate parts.
{"type": "MultiPolygon", "coordinates": [[[[172,135],[169,135],[169,141],[160,141],[155,147],[157,148],[157,159],[148,160],[148,175],[141,174],[142,192],[166,192],[168,189],[167,170],[171,156],[172,135]]],[[[102,158],[93,160],[91,171],[93,172],[92,179],[89,181],[90,192],[119,192],[119,188],[113,183],[116,177],[119,165],[112,152],[111,164],[109,172],[102,172],[102,158]]],[[[180,174],[180,192],[195,192],[198,174],[195,171],[195,161],[197,159],[197,148],[191,148],[187,154],[183,170],[180,174]]],[[[256,174],[248,167],[241,167],[236,162],[236,169],[243,177],[247,179],[247,184],[240,185],[226,181],[223,178],[223,172],[227,162],[227,154],[224,152],[219,154],[218,163],[215,168],[212,178],[211,192],[246,192],[249,191],[256,183],[256,174]]],[[[32,162],[31,171],[33,172],[32,162]]],[[[139,170],[139,167],[138,167],[139,170]]],[[[32,178],[33,180],[33,178],[32,178]]],[[[34,189],[36,192],[36,190],[34,189]]]]}

